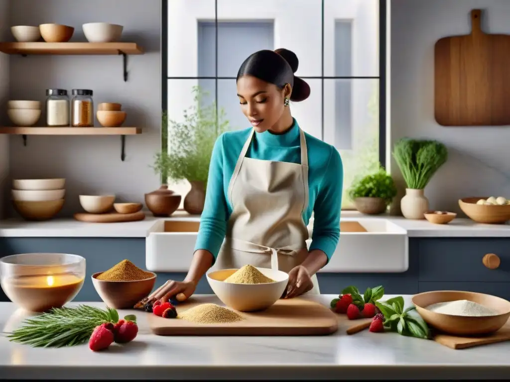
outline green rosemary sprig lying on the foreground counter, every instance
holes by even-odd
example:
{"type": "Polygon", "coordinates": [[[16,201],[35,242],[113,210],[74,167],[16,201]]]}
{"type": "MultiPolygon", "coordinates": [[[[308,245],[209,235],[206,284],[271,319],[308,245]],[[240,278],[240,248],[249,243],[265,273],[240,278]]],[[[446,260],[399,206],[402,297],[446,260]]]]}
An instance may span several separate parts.
{"type": "Polygon", "coordinates": [[[87,305],[75,308],[53,308],[39,316],[28,318],[25,324],[7,337],[12,342],[33,347],[74,346],[87,342],[97,325],[116,323],[119,314],[107,307],[102,310],[87,305]]]}

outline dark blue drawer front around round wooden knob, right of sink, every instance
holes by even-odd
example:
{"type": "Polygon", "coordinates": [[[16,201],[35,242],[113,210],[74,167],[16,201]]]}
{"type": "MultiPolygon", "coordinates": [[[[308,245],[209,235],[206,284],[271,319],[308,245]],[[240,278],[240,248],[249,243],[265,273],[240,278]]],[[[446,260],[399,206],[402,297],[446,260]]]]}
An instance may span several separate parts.
{"type": "Polygon", "coordinates": [[[510,282],[510,238],[419,239],[419,281],[510,282]],[[499,267],[483,265],[486,254],[499,267]]]}

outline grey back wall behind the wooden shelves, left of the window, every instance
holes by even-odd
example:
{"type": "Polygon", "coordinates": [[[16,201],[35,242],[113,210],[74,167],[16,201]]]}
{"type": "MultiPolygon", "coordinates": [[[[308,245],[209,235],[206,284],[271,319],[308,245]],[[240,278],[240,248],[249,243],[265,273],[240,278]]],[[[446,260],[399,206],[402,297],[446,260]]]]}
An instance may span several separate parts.
{"type": "MultiPolygon", "coordinates": [[[[5,2],[5,1],[4,1],[5,2]]],[[[81,211],[80,194],[113,193],[118,200],[143,202],[158,188],[149,168],[161,150],[161,4],[160,0],[11,0],[9,25],[57,22],[74,26],[71,41],[86,41],[81,25],[106,21],[124,25],[122,41],[140,43],[142,56],[129,56],[129,79],[122,77],[120,56],[10,56],[11,99],[44,101],[47,88],[92,89],[94,102],[120,102],[124,126],[143,133],[126,137],[126,159],[120,160],[120,137],[10,137],[11,176],[65,177],[62,215],[81,211]]],[[[1,12],[0,17],[6,17],[1,12]]],[[[12,36],[7,36],[12,41],[12,36]]],[[[1,94],[1,93],[0,93],[1,94]]],[[[0,98],[2,96],[0,95],[0,98]]],[[[2,99],[2,101],[4,101],[2,99]]],[[[2,113],[5,105],[2,102],[2,113]]],[[[45,114],[41,123],[45,121],[45,114]]],[[[96,125],[99,124],[96,121],[96,125]]],[[[3,137],[1,137],[3,138],[3,137]]],[[[12,211],[11,211],[12,212],[12,211]]]]}

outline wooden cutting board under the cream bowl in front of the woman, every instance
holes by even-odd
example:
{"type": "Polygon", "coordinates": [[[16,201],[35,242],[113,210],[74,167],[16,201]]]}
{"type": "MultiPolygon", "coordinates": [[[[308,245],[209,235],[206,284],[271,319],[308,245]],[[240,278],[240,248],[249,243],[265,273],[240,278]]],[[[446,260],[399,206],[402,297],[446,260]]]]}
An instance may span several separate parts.
{"type": "MultiPolygon", "coordinates": [[[[215,295],[197,295],[177,305],[177,314],[207,303],[224,306],[215,295]]],[[[180,318],[147,314],[150,330],[158,336],[317,336],[338,330],[335,313],[321,304],[299,297],[279,299],[264,311],[238,313],[245,319],[220,324],[197,324],[180,318]]]]}

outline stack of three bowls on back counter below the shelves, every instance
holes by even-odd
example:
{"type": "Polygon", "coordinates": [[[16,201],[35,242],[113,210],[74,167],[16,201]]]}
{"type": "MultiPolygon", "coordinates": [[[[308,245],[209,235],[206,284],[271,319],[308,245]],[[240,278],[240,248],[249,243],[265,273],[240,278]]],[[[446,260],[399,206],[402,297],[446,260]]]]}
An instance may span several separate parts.
{"type": "Polygon", "coordinates": [[[65,179],[14,179],[14,208],[25,220],[49,220],[64,206],[65,179]]]}

